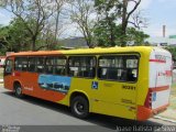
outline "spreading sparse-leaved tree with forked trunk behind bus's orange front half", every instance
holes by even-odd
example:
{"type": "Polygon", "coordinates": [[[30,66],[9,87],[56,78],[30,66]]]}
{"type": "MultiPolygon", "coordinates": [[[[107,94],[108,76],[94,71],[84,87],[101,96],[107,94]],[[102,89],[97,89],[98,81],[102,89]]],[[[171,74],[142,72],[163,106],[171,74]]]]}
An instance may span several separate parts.
{"type": "Polygon", "coordinates": [[[19,18],[30,33],[31,50],[36,50],[36,41],[55,8],[53,0],[1,0],[0,4],[19,18]]]}

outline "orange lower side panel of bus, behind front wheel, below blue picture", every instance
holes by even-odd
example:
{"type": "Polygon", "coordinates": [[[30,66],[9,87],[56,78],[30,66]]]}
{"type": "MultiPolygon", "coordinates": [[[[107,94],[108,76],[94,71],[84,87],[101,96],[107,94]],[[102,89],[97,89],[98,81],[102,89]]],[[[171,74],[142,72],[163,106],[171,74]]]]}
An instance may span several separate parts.
{"type": "Polygon", "coordinates": [[[15,72],[14,73],[15,80],[22,85],[23,94],[33,96],[36,98],[41,98],[48,101],[59,101],[66,95],[63,92],[58,92],[52,89],[42,88],[38,84],[40,75],[36,73],[29,73],[29,72],[15,72]]]}

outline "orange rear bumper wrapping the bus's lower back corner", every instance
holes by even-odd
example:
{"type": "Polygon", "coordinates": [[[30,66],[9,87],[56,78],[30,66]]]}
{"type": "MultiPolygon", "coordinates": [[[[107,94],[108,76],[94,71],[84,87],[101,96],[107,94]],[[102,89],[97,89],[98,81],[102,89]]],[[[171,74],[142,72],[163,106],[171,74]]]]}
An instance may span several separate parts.
{"type": "Polygon", "coordinates": [[[139,120],[139,121],[145,121],[148,118],[152,118],[153,116],[158,114],[158,113],[165,111],[168,106],[169,106],[169,103],[164,105],[164,106],[162,106],[160,108],[156,108],[156,109],[150,109],[150,108],[146,108],[144,106],[138,106],[136,120],[139,120]]]}

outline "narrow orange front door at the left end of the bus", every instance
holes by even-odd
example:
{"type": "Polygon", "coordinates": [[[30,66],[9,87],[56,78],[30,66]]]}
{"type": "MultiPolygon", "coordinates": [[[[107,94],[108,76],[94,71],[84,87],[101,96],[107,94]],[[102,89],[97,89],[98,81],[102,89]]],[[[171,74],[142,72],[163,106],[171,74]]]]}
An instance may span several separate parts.
{"type": "Polygon", "coordinates": [[[4,81],[4,88],[12,89],[13,84],[13,58],[8,57],[6,59],[6,65],[4,65],[4,72],[3,72],[3,81],[4,81]]]}

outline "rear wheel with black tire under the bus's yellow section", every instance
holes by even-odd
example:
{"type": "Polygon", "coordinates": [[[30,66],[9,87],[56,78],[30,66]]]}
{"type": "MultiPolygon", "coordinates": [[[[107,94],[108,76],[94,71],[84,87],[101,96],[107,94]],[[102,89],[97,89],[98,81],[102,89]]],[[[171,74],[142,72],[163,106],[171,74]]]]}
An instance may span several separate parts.
{"type": "Polygon", "coordinates": [[[82,96],[77,96],[72,100],[70,109],[77,118],[85,119],[89,116],[89,103],[82,96]]]}

